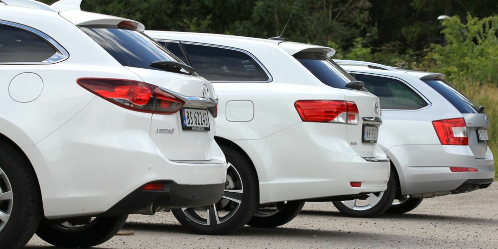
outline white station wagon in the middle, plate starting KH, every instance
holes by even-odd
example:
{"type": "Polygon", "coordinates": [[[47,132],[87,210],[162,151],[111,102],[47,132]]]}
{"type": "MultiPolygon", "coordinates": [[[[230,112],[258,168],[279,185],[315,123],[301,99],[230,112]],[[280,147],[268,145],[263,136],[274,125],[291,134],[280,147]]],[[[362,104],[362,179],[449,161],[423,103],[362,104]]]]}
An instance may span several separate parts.
{"type": "Polygon", "coordinates": [[[209,208],[173,210],[182,225],[202,234],[276,227],[299,213],[304,202],[296,200],[351,200],[385,190],[389,162],[375,143],[378,98],[330,60],[333,49],[145,33],[213,82],[220,100],[215,139],[228,162],[225,193],[209,208]]]}

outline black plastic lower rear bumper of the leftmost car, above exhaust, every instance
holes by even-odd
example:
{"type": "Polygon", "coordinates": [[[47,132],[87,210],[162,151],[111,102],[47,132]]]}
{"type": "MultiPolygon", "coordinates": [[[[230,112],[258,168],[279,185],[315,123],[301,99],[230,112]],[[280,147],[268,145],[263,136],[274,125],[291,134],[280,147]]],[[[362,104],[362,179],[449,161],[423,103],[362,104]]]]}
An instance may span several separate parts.
{"type": "Polygon", "coordinates": [[[225,183],[187,185],[174,181],[154,181],[163,183],[162,190],[143,190],[144,184],[102,215],[137,213],[153,205],[153,212],[173,208],[193,208],[207,206],[218,202],[225,189],[225,183]]]}

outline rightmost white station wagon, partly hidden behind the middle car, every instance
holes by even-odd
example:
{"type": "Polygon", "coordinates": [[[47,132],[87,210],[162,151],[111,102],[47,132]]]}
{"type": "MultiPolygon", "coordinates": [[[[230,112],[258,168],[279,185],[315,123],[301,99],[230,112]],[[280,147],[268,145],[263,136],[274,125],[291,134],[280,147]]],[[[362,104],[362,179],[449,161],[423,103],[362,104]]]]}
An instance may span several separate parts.
{"type": "Polygon", "coordinates": [[[488,115],[446,83],[443,74],[336,62],[380,98],[383,123],[378,144],[394,172],[385,192],[366,200],[335,202],[340,211],[355,217],[406,213],[423,198],[490,186],[495,161],[488,147],[488,115]]]}

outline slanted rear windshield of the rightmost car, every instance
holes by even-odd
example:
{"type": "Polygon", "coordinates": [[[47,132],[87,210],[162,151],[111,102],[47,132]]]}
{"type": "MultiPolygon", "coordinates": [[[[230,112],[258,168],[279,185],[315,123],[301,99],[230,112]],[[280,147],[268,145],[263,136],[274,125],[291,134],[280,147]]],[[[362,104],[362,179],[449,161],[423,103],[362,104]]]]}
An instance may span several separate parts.
{"type": "Polygon", "coordinates": [[[469,97],[442,80],[424,80],[448,100],[460,113],[478,113],[479,107],[469,97]]]}

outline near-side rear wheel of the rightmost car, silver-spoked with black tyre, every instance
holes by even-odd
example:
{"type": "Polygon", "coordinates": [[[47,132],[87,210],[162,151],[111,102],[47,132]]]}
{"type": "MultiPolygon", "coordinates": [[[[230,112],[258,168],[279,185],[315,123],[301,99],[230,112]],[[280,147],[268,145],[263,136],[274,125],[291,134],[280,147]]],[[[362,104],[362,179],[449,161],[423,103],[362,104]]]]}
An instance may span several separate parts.
{"type": "MultiPolygon", "coordinates": [[[[384,192],[371,193],[368,195],[368,198],[372,198],[373,201],[378,199],[378,202],[372,207],[370,204],[357,206],[356,201],[360,199],[356,199],[353,201],[343,201],[343,202],[333,202],[334,206],[344,213],[351,217],[361,217],[361,218],[372,218],[377,215],[383,214],[394,201],[394,197],[396,196],[396,192],[398,190],[398,176],[396,174],[396,170],[394,167],[391,167],[389,181],[387,181],[387,189],[384,192]],[[354,208],[350,208],[349,206],[354,206],[354,208]],[[353,205],[351,205],[353,204],[353,205]]],[[[367,198],[367,200],[368,200],[367,198]]],[[[362,199],[363,200],[363,199],[362,199]]],[[[369,201],[370,203],[370,201],[369,201]]]]}

